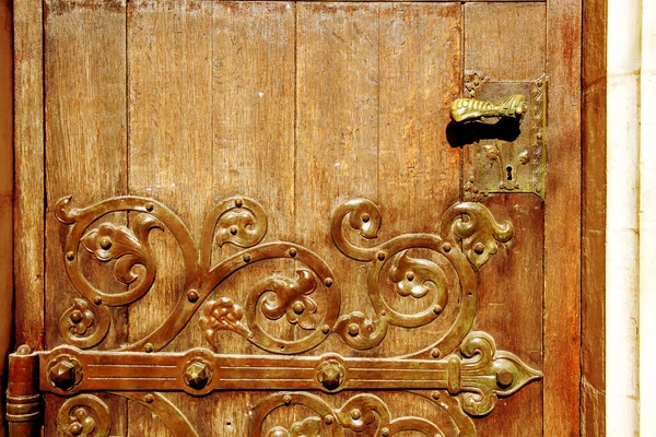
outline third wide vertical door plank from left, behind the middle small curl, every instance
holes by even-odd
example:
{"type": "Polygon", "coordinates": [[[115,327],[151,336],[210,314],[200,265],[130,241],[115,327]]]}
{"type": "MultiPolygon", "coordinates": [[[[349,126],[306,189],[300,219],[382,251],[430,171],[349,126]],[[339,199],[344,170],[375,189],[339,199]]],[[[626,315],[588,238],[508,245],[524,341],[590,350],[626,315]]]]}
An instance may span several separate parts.
{"type": "MultiPolygon", "coordinates": [[[[213,8],[212,192],[219,194],[216,200],[246,196],[259,202],[267,214],[266,241],[295,241],[295,4],[279,2],[229,2],[213,8]]],[[[245,304],[250,288],[274,273],[296,277],[294,261],[245,268],[220,285],[216,295],[245,304]]],[[[286,318],[263,319],[262,327],[285,340],[303,334],[286,318]]],[[[194,335],[202,341],[200,329],[194,335]]],[[[220,333],[220,339],[231,353],[262,352],[233,332],[220,333]]]]}

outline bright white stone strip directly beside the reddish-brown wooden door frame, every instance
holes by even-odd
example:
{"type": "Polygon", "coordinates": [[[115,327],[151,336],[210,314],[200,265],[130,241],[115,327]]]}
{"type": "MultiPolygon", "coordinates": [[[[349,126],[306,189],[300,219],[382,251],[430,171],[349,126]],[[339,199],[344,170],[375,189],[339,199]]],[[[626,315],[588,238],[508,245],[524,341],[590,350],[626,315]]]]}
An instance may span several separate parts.
{"type": "Polygon", "coordinates": [[[640,429],[641,29],[642,0],[608,0],[606,417],[622,437],[640,429]]]}

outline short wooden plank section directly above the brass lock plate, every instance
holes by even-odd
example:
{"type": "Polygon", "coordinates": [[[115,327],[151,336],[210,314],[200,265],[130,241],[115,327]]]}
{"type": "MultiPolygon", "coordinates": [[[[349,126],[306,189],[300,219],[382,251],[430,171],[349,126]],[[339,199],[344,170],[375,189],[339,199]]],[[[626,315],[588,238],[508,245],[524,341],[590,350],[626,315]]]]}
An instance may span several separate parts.
{"type": "Polygon", "coordinates": [[[466,4],[465,69],[499,80],[538,79],[544,72],[544,13],[543,3],[466,4]]]}

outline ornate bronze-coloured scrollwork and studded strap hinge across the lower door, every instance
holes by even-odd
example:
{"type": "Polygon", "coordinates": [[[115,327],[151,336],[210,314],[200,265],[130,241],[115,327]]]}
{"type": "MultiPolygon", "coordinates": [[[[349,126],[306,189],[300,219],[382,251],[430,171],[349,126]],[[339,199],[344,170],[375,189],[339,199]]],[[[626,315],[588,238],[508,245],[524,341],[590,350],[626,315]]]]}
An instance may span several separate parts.
{"type": "MultiPolygon", "coordinates": [[[[292,437],[328,433],[339,436],[344,430],[361,433],[365,429],[373,429],[376,436],[391,436],[401,430],[444,435],[436,425],[421,417],[393,420],[388,406],[373,394],[354,395],[336,409],[306,392],[409,390],[437,404],[462,435],[473,436],[471,417],[490,413],[499,397],[511,395],[541,377],[514,354],[497,352],[489,334],[471,332],[478,305],[476,271],[497,251],[499,244],[507,243],[514,235],[509,222],[496,222],[480,203],[462,202],[449,208],[438,233],[405,234],[373,246],[354,241],[352,235],[354,231],[362,239],[377,238],[383,224],[377,205],[367,199],[354,199],[337,208],[330,234],[344,256],[365,263],[366,294],[372,309],[367,312],[373,314],[372,317],[361,311],[340,312],[338,277],[316,253],[293,243],[261,243],[267,216],[256,201],[247,198],[226,199],[212,209],[203,223],[200,246],[175,213],[152,199],[121,197],[77,209],[71,205],[71,198],[65,198],[57,203],[56,215],[71,226],[65,264],[81,295],[59,323],[62,338],[74,347],[65,346],[40,355],[43,368],[50,371],[49,376],[45,375],[51,380],[48,390],[58,394],[110,391],[107,381],[112,378],[107,378],[107,371],[113,378],[122,378],[124,390],[184,390],[203,395],[216,389],[284,388],[296,391],[267,397],[254,406],[251,435],[292,437]],[[132,213],[130,226],[103,222],[104,216],[119,211],[132,213]],[[183,253],[184,290],[172,314],[144,339],[121,349],[121,354],[80,351],[78,347],[97,345],[107,334],[110,307],[133,303],[156,281],[157,260],[149,244],[149,235],[155,229],[171,233],[183,253]],[[223,250],[225,245],[237,247],[237,252],[229,255],[223,250]],[[413,255],[415,249],[423,249],[421,253],[429,252],[432,257],[422,255],[420,258],[413,255]],[[83,250],[99,262],[113,262],[116,279],[129,287],[109,292],[91,284],[80,265],[83,250]],[[444,262],[437,263],[437,258],[444,262]],[[274,273],[265,277],[253,285],[243,302],[220,294],[220,285],[227,276],[268,259],[294,260],[295,274],[274,273]],[[445,265],[450,265],[457,274],[456,286],[447,280],[445,265]],[[382,284],[394,290],[401,299],[423,304],[423,309],[411,314],[399,310],[386,300],[382,284]],[[353,349],[371,349],[385,340],[390,327],[425,326],[449,305],[457,307],[450,326],[440,332],[432,344],[406,356],[354,358],[325,354],[285,359],[276,356],[306,353],[331,334],[339,335],[353,349]],[[197,349],[185,354],[156,353],[196,312],[200,316],[198,328],[215,352],[197,349]],[[267,331],[262,320],[297,327],[300,335],[276,336],[267,331]],[[232,331],[276,355],[221,354],[216,335],[220,330],[232,331]],[[86,368],[91,356],[94,366],[86,368]],[[159,369],[155,379],[150,377],[153,366],[159,369]],[[422,370],[421,375],[418,369],[422,370]],[[375,370],[374,377],[370,376],[372,370],[375,370]],[[59,385],[52,375],[61,380],[59,385]],[[82,380],[81,375],[84,375],[82,380]],[[395,379],[398,375],[403,375],[402,379],[395,379]],[[262,428],[263,420],[273,410],[291,404],[303,405],[316,415],[289,425],[262,428]]],[[[180,429],[185,429],[184,435],[196,433],[184,415],[160,394],[153,392],[147,398],[138,391],[116,394],[160,409],[173,417],[168,426],[177,435],[183,435],[180,429]]],[[[69,428],[73,426],[71,421],[78,417],[74,413],[71,409],[61,413],[61,421],[69,428]]],[[[94,414],[101,417],[99,413],[94,414]]],[[[82,428],[91,427],[91,422],[75,423],[82,428]]],[[[97,425],[94,423],[94,426],[97,425]]]]}

